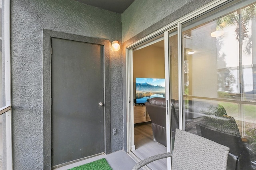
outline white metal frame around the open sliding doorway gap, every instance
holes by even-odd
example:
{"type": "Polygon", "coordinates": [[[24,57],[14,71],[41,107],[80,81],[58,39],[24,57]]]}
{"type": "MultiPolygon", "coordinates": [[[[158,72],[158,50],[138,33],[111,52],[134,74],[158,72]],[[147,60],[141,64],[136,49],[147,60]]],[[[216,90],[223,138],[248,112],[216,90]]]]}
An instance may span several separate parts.
{"type": "MultiPolygon", "coordinates": [[[[172,28],[174,29],[174,28],[172,28]]],[[[134,111],[133,111],[133,98],[134,98],[134,87],[133,87],[133,49],[138,47],[144,47],[150,45],[154,40],[158,40],[161,37],[164,40],[164,67],[165,67],[165,92],[166,92],[166,152],[171,152],[170,146],[170,109],[169,105],[169,42],[168,42],[168,31],[159,31],[153,35],[147,36],[142,40],[126,47],[126,109],[127,109],[127,152],[132,156],[132,158],[136,159],[136,161],[140,161],[140,159],[132,153],[135,150],[134,145],[134,111]],[[154,40],[153,40],[154,39],[154,40]],[[150,41],[151,40],[151,41],[150,41]],[[152,41],[153,40],[153,41],[152,41]],[[168,71],[166,71],[168,70],[168,71]]],[[[167,158],[167,165],[170,166],[170,158],[167,158]]]]}

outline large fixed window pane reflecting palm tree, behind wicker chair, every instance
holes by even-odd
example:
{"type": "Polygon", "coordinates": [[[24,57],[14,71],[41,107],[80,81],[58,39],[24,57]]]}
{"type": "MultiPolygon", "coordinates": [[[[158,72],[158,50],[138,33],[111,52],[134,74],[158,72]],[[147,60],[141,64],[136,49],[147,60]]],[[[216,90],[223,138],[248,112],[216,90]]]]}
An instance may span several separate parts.
{"type": "Polygon", "coordinates": [[[182,25],[185,130],[243,156],[229,160],[229,168],[256,163],[256,4],[246,3],[252,2],[182,25]]]}

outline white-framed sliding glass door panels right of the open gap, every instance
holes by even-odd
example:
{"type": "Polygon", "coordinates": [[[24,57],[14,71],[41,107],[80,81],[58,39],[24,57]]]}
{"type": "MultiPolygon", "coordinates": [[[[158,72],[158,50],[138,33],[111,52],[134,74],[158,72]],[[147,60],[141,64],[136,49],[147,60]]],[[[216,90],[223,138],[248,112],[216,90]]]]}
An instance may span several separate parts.
{"type": "Polygon", "coordinates": [[[216,0],[162,33],[167,152],[180,128],[228,146],[228,169],[256,169],[256,0],[216,0]]]}

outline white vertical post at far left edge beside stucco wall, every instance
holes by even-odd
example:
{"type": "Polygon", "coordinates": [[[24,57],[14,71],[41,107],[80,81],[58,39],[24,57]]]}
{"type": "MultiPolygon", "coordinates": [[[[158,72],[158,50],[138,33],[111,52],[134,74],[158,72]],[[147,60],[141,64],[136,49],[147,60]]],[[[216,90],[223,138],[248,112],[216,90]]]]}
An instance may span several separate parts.
{"type": "MultiPolygon", "coordinates": [[[[10,0],[4,1],[4,67],[6,105],[11,106],[10,71],[10,0]]],[[[6,112],[6,168],[12,170],[12,114],[6,112]]]]}

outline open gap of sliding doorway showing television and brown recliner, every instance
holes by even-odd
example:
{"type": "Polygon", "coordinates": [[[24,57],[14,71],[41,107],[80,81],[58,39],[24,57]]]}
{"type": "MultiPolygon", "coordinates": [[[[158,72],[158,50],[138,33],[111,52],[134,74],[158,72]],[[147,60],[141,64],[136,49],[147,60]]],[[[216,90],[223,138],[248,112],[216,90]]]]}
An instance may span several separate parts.
{"type": "MultiPolygon", "coordinates": [[[[132,50],[134,150],[140,160],[166,153],[166,91],[164,35],[160,34],[132,50]],[[148,152],[148,148],[153,148],[148,152]]],[[[148,164],[167,169],[167,159],[148,164]]]]}

